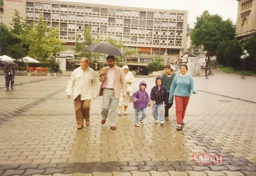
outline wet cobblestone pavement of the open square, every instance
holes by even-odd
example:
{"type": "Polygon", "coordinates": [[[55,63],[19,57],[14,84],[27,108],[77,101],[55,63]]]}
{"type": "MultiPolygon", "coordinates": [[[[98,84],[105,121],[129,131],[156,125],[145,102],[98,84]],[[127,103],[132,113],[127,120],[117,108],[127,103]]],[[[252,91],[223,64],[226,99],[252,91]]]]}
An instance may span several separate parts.
{"type": "MultiPolygon", "coordinates": [[[[146,125],[134,127],[132,104],[111,130],[100,124],[101,97],[91,103],[90,127],[77,130],[68,77],[16,77],[26,84],[0,89],[0,175],[255,176],[255,79],[214,73],[194,77],[200,91],[183,131],[175,130],[175,105],[165,126],[154,124],[149,107],[146,125]],[[193,162],[193,153],[211,162],[193,162]]],[[[136,78],[135,89],[142,79],[150,93],[155,78],[136,78]]]]}

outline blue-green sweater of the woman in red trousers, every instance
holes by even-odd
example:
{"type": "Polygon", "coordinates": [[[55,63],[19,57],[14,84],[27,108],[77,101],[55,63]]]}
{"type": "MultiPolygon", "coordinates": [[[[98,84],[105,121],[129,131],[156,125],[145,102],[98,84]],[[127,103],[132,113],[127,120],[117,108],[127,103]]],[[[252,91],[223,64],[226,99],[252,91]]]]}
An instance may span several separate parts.
{"type": "Polygon", "coordinates": [[[197,93],[194,87],[193,78],[190,75],[176,75],[171,85],[169,103],[172,103],[174,95],[181,97],[190,96],[191,90],[193,94],[197,93]]]}

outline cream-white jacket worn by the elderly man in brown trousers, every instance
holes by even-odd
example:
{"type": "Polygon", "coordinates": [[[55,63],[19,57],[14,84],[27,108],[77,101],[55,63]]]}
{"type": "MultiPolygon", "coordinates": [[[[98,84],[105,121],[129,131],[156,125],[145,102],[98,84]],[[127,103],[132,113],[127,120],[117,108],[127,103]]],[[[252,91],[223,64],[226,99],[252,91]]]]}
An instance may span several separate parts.
{"type": "Polygon", "coordinates": [[[98,82],[95,71],[87,67],[83,70],[81,67],[76,68],[67,83],[67,95],[73,93],[73,99],[81,95],[81,100],[96,99],[98,96],[98,82]]]}

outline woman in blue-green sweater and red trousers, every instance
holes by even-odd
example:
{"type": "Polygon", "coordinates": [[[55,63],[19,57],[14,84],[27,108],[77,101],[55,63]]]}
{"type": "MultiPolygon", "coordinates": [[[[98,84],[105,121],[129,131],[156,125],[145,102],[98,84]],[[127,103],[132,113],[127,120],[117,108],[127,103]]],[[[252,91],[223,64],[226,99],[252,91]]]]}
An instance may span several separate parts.
{"type": "Polygon", "coordinates": [[[173,97],[175,97],[177,130],[181,129],[181,125],[185,125],[183,119],[189,103],[191,91],[193,94],[197,93],[194,87],[193,78],[190,75],[187,75],[187,71],[188,66],[182,64],[180,66],[180,74],[174,77],[170,88],[169,103],[171,103],[173,97]]]}

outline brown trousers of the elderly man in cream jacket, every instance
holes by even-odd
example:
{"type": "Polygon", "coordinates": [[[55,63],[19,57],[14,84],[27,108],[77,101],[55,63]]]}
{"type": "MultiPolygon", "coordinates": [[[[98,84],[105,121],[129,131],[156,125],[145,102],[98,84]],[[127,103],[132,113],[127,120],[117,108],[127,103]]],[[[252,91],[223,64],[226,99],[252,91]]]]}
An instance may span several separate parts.
{"type": "Polygon", "coordinates": [[[90,102],[91,100],[81,100],[81,95],[74,100],[77,125],[83,126],[84,119],[90,119],[90,102]]]}

